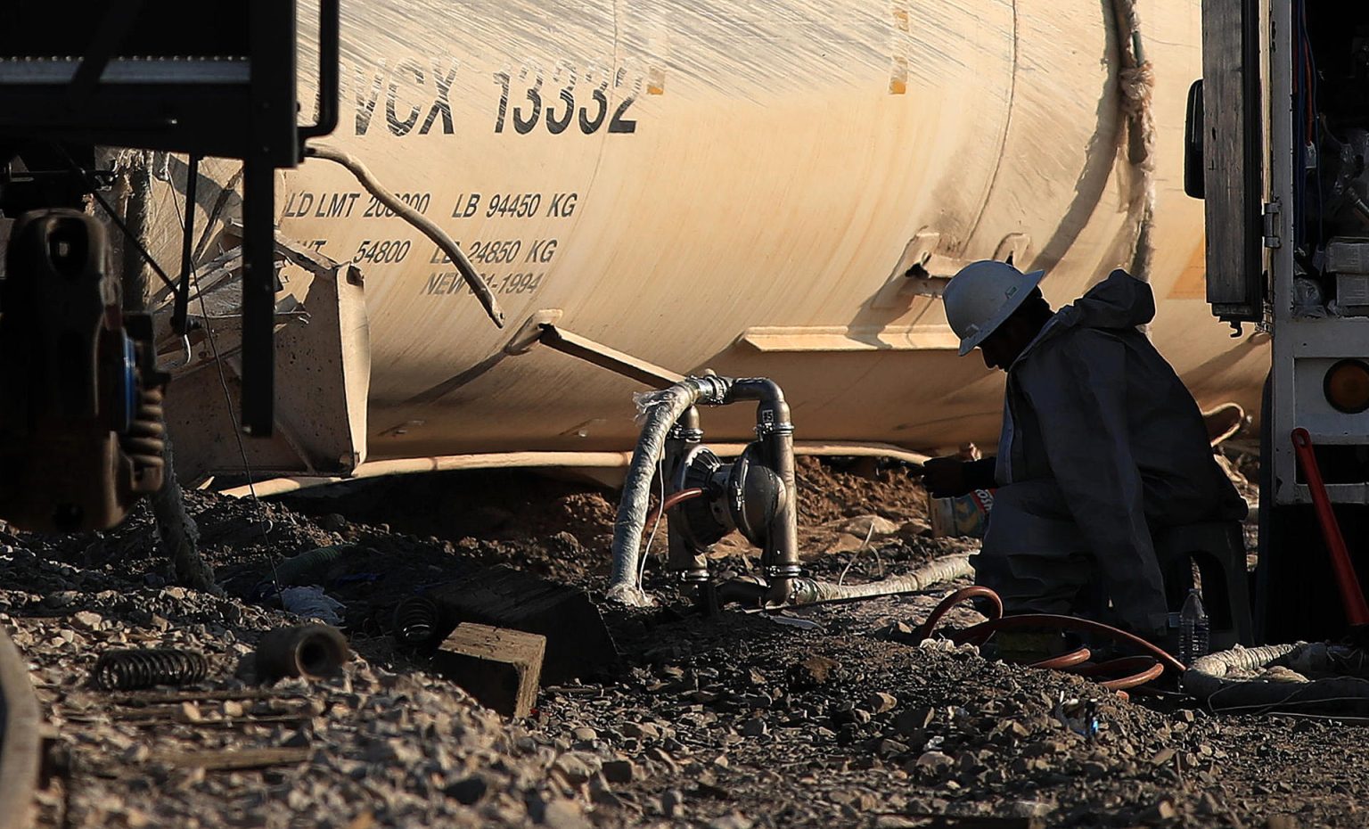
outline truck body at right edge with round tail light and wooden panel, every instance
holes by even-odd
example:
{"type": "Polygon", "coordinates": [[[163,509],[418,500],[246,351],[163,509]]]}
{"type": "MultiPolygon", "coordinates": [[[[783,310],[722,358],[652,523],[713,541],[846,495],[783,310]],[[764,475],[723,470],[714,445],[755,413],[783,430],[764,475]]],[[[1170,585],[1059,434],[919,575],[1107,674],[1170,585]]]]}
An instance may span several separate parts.
{"type": "MultiPolygon", "coordinates": [[[[1369,7],[1203,3],[1187,186],[1205,197],[1207,299],[1272,334],[1257,615],[1264,639],[1344,626],[1292,432],[1312,436],[1346,543],[1369,541],[1369,7]],[[1199,106],[1201,104],[1201,106],[1199,106]]],[[[1355,555],[1358,551],[1359,555],[1355,555]]]]}

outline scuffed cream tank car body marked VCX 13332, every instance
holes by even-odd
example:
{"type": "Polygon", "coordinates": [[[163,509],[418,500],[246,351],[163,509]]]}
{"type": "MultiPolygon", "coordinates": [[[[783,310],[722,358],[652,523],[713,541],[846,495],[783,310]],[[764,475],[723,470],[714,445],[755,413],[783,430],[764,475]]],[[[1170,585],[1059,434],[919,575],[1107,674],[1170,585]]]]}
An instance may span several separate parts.
{"type": "MultiPolygon", "coordinates": [[[[1251,407],[1266,352],[1212,318],[1202,204],[1181,188],[1199,4],[1138,11],[1155,70],[1153,334],[1202,403],[1251,407]]],[[[305,314],[282,315],[281,429],[246,443],[257,474],[630,449],[643,386],[543,347],[505,354],[543,311],[680,373],[771,377],[801,440],[994,443],[1002,375],[956,356],[938,280],[1012,255],[1049,270],[1060,304],[1135,238],[1118,25],[1097,0],[357,0],[342,41],[324,141],[461,244],[508,327],[344,169],[283,173],[282,237],[355,262],[364,288],[283,271],[305,314]],[[337,332],[301,344],[319,319],[337,332]]],[[[207,171],[230,184],[237,166],[207,171]]],[[[153,241],[174,260],[171,181],[153,241]]],[[[214,222],[233,216],[218,196],[201,188],[201,222],[215,201],[214,222]]],[[[207,345],[170,392],[188,477],[242,466],[207,345]]],[[[708,438],[745,440],[750,417],[705,412],[708,438]]]]}

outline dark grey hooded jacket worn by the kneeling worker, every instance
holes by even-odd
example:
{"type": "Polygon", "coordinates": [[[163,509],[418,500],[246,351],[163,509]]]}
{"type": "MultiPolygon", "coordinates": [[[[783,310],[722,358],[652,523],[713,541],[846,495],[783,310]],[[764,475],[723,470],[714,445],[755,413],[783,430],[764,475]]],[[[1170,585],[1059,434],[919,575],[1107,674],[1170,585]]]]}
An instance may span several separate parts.
{"type": "Polygon", "coordinates": [[[1160,584],[1153,532],[1246,515],[1198,404],[1136,329],[1154,315],[1150,285],[1121,270],[1055,312],[1008,370],[994,473],[1054,481],[1103,586],[1140,604],[1160,584]]]}

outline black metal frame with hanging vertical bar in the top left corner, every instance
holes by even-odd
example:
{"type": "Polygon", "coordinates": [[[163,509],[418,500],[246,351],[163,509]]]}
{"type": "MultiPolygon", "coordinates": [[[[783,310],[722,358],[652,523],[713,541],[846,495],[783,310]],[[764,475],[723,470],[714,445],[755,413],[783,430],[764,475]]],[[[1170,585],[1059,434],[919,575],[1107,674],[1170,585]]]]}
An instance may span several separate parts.
{"type": "MultiPolygon", "coordinates": [[[[242,0],[225,11],[205,26],[171,0],[4,4],[0,164],[21,156],[26,170],[49,170],[33,159],[57,144],[77,148],[73,158],[107,145],[242,159],[242,429],[268,436],[274,175],[303,160],[307,138],[337,126],[340,0],[320,0],[318,121],[305,126],[296,122],[294,1],[242,0]]],[[[25,189],[42,185],[60,200],[26,210],[71,206],[71,190],[90,192],[93,164],[85,164],[29,182],[25,189]]],[[[0,192],[0,204],[11,200],[0,192]]]]}

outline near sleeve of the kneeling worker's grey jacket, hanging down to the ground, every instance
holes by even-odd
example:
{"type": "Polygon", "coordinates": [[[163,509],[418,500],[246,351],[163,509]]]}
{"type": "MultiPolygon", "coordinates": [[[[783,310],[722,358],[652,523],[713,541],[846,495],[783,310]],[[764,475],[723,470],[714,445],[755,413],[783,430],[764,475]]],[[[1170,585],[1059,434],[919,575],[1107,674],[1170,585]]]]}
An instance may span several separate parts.
{"type": "Polygon", "coordinates": [[[1079,330],[1045,344],[1020,371],[1051,474],[1118,615],[1142,632],[1162,628],[1164,578],[1127,423],[1125,345],[1105,332],[1079,330]]]}

